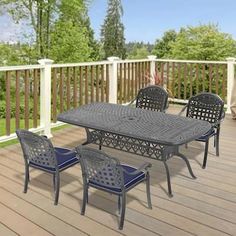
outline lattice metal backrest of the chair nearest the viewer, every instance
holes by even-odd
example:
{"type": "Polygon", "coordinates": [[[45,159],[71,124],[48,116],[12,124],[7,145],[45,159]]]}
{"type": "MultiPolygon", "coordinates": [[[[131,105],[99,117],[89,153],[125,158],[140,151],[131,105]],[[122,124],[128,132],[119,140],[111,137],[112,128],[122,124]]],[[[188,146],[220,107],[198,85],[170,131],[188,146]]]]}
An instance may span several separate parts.
{"type": "Polygon", "coordinates": [[[123,170],[119,160],[89,147],[76,148],[80,156],[82,174],[86,181],[108,188],[123,188],[123,170]]]}

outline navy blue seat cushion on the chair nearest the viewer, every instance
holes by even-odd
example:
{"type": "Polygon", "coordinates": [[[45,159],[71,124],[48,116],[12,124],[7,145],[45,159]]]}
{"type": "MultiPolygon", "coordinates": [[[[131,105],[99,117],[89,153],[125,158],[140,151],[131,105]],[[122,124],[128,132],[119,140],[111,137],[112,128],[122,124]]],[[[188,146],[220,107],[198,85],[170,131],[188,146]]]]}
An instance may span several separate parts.
{"type": "MultiPolygon", "coordinates": [[[[132,173],[134,171],[136,171],[137,169],[132,167],[132,166],[128,166],[128,165],[122,165],[123,169],[125,169],[127,172],[132,173]]],[[[137,173],[136,175],[129,175],[127,173],[124,172],[124,185],[125,185],[125,189],[129,189],[132,186],[135,186],[137,183],[142,182],[144,179],[146,178],[146,175],[143,171],[140,171],[139,173],[137,173]]],[[[96,188],[101,188],[104,190],[111,190],[113,192],[121,192],[121,188],[113,188],[113,187],[107,187],[98,183],[94,183],[93,181],[89,181],[90,185],[96,187],[96,188]]]]}

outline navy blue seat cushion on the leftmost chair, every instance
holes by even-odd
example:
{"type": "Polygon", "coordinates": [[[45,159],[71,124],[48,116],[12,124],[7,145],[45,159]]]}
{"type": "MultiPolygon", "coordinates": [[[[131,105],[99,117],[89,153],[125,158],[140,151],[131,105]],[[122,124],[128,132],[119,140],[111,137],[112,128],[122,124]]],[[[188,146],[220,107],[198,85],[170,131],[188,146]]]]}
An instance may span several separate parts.
{"type": "MultiPolygon", "coordinates": [[[[79,162],[78,158],[76,157],[75,152],[71,152],[71,150],[69,150],[67,148],[55,147],[54,149],[55,149],[55,154],[56,154],[59,170],[66,169],[66,168],[73,166],[79,162]]],[[[42,170],[46,170],[46,171],[52,171],[52,172],[56,170],[55,167],[47,167],[45,165],[41,165],[38,163],[32,163],[32,162],[30,162],[30,166],[33,166],[33,167],[36,167],[36,168],[39,168],[42,170]]]]}

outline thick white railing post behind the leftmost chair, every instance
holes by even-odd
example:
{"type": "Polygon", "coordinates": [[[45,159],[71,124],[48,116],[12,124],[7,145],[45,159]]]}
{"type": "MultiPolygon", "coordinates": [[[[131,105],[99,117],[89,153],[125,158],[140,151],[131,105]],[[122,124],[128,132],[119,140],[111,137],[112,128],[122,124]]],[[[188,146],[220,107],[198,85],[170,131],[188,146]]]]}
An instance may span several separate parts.
{"type": "Polygon", "coordinates": [[[43,127],[43,134],[48,138],[51,133],[51,65],[53,60],[38,60],[44,68],[40,70],[40,126],[43,127]]]}

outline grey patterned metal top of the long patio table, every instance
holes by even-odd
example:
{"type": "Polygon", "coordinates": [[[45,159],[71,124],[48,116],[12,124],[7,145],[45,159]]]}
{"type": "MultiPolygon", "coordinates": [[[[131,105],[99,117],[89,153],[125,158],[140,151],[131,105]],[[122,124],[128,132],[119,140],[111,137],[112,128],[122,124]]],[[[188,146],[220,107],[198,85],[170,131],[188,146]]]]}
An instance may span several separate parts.
{"type": "Polygon", "coordinates": [[[57,119],[161,145],[181,145],[212,128],[207,121],[98,102],[61,113],[57,119]]]}

